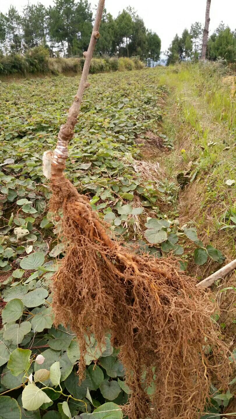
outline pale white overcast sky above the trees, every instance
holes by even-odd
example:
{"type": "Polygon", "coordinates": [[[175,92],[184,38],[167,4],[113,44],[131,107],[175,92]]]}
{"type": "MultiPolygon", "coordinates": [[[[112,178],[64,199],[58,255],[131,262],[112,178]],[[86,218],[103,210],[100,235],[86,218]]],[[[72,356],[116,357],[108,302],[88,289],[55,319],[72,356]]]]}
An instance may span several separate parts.
{"type": "MultiPolygon", "coordinates": [[[[0,11],[6,13],[10,4],[21,11],[27,0],[0,0],[0,11]],[[4,4],[3,4],[4,3],[4,4]]],[[[29,0],[37,3],[37,0],[29,0]]],[[[53,0],[40,0],[45,6],[53,0]]],[[[97,0],[90,0],[92,8],[97,0]]],[[[165,51],[177,33],[190,29],[191,23],[205,22],[206,0],[105,0],[105,8],[114,17],[127,6],[134,7],[143,18],[145,26],[160,36],[162,51],[165,51]]],[[[232,30],[236,28],[236,0],[212,0],[210,8],[210,33],[223,21],[232,30]]]]}

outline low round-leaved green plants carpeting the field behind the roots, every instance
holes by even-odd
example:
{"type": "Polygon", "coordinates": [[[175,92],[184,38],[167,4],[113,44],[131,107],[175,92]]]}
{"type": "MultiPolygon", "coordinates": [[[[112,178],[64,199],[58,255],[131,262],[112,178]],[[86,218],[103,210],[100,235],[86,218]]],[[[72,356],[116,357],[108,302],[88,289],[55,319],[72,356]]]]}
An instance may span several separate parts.
{"type": "MultiPolygon", "coordinates": [[[[207,134],[200,128],[198,134],[194,132],[185,102],[179,104],[181,126],[187,132],[191,127],[196,142],[200,144],[201,138],[205,149],[200,147],[199,159],[199,148],[194,154],[193,147],[190,154],[186,146],[182,152],[176,147],[179,132],[174,118],[171,126],[168,122],[173,114],[170,108],[165,114],[165,103],[170,101],[173,83],[178,87],[177,80],[189,81],[189,73],[164,71],[90,76],[91,87],[69,147],[66,176],[90,197],[93,209],[114,233],[128,243],[138,243],[141,252],[156,257],[172,253],[184,270],[188,261],[189,267],[221,264],[224,246],[220,251],[217,241],[202,238],[196,218],[180,217],[178,196],[186,179],[190,185],[199,184],[201,174],[212,173],[213,157],[207,134]],[[176,161],[181,165],[176,166],[176,161]]],[[[50,188],[42,174],[42,153],[53,149],[77,85],[77,76],[0,85],[0,403],[6,411],[12,406],[13,419],[20,418],[21,411],[24,416],[24,409],[37,419],[78,414],[86,418],[92,411],[103,411],[101,418],[112,411],[110,417],[116,419],[122,417],[118,405],[128,399],[118,349],[111,346],[109,336],[102,348],[88,336],[86,376],[79,384],[75,335],[62,326],[53,327],[50,278],[60,266],[66,244],[58,240],[60,225],[48,210],[50,188]]],[[[179,103],[176,96],[172,100],[172,106],[179,103]]],[[[195,118],[192,124],[199,127],[197,123],[195,118]]],[[[225,117],[223,124],[232,136],[225,117]]],[[[217,161],[219,154],[214,158],[217,161]]],[[[229,191],[233,186],[227,185],[229,191]]],[[[225,215],[226,225],[231,225],[231,217],[233,212],[225,215]]],[[[152,388],[147,393],[151,395],[152,388]]],[[[231,393],[225,397],[229,401],[231,393]]],[[[218,397],[217,406],[222,400],[218,397]]]]}

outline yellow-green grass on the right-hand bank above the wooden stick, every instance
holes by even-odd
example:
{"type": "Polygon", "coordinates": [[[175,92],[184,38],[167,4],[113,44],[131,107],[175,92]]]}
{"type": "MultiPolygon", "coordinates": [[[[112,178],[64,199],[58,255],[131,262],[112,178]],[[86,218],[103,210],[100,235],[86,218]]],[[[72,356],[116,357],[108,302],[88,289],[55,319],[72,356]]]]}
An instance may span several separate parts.
{"type": "Polygon", "coordinates": [[[221,246],[227,245],[228,257],[234,258],[235,230],[228,233],[218,227],[222,214],[233,207],[236,191],[235,183],[226,184],[236,180],[236,101],[221,76],[202,65],[169,67],[161,75],[160,83],[173,92],[164,129],[175,140],[175,152],[163,165],[171,179],[178,171],[189,172],[184,220],[194,219],[215,245],[224,238],[221,246]]]}

